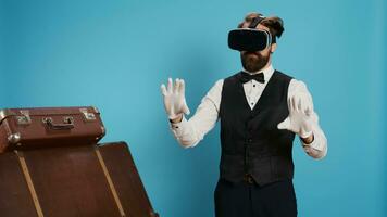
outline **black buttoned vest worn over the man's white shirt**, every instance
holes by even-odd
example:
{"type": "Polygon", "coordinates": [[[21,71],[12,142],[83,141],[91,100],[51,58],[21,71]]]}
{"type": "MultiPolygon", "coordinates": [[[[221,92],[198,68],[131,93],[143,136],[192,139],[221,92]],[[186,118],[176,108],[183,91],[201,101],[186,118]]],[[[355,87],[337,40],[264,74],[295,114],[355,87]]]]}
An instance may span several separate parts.
{"type": "Polygon", "coordinates": [[[222,89],[221,178],[240,182],[245,175],[251,175],[258,184],[292,179],[295,133],[277,129],[289,114],[291,77],[275,71],[251,110],[239,80],[241,73],[226,78],[222,89]]]}

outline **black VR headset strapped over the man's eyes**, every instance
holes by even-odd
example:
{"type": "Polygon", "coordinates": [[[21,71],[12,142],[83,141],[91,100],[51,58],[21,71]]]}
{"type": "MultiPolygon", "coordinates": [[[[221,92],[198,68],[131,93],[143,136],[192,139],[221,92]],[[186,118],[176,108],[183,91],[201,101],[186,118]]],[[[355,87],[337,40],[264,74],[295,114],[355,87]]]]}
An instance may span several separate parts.
{"type": "Polygon", "coordinates": [[[270,31],[255,28],[264,18],[264,16],[254,17],[248,28],[230,30],[228,33],[228,47],[237,51],[255,52],[275,43],[275,37],[270,31]]]}

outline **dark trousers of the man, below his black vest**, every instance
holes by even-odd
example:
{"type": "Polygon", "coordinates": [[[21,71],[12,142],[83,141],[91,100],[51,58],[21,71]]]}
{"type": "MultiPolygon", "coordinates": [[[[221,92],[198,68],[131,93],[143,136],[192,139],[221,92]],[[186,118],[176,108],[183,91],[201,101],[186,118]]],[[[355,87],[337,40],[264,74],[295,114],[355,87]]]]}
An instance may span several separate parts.
{"type": "Polygon", "coordinates": [[[265,186],[220,179],[214,192],[215,217],[296,217],[292,180],[265,186]]]}

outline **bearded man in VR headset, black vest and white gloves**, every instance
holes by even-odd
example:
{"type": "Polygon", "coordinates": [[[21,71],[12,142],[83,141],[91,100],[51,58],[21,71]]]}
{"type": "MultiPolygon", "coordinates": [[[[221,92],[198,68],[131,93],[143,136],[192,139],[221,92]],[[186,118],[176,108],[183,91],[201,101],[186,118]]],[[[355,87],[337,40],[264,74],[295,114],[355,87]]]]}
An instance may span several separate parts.
{"type": "Polygon", "coordinates": [[[297,216],[295,135],[308,155],[327,153],[307,86],[272,66],[283,31],[279,17],[248,14],[228,35],[229,47],[240,51],[242,71],[217,80],[188,120],[184,80],[170,78],[167,87],[161,86],[171,129],[183,146],[197,145],[221,120],[216,217],[297,216]]]}

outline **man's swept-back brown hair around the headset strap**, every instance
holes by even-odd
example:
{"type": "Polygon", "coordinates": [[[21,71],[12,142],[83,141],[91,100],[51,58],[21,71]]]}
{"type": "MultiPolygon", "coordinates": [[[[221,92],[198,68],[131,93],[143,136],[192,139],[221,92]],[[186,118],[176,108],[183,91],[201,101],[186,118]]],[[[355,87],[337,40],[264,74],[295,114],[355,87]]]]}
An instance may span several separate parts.
{"type": "MultiPolygon", "coordinates": [[[[260,13],[248,13],[245,16],[244,22],[241,22],[238,25],[238,28],[241,28],[244,26],[245,23],[251,23],[253,18],[258,17],[258,16],[263,16],[260,13]]],[[[270,16],[270,17],[265,17],[262,20],[262,22],[260,23],[263,26],[266,26],[270,30],[270,33],[272,34],[273,37],[280,37],[284,33],[284,21],[282,18],[279,18],[278,16],[270,16]]]]}

